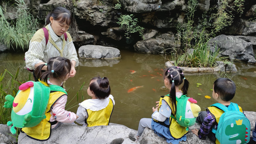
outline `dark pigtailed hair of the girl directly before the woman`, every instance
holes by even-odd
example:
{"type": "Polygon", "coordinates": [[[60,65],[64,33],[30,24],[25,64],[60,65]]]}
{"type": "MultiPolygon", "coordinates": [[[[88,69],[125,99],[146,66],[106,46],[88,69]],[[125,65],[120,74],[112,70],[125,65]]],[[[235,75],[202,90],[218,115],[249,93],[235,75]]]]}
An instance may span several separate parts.
{"type": "Polygon", "coordinates": [[[35,69],[35,74],[37,78],[46,82],[47,84],[48,78],[56,78],[63,82],[67,74],[70,73],[71,65],[72,63],[69,59],[63,57],[53,57],[48,60],[47,70],[45,72],[41,72],[42,68],[45,66],[45,64],[41,64],[35,69]]]}

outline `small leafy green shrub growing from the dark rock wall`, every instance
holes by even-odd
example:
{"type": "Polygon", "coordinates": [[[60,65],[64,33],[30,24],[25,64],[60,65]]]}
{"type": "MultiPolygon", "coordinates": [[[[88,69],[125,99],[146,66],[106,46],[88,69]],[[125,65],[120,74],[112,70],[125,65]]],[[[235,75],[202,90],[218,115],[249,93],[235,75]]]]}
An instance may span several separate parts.
{"type": "Polygon", "coordinates": [[[143,36],[144,28],[137,24],[138,19],[133,18],[133,14],[131,15],[121,15],[118,18],[117,23],[120,25],[120,28],[125,30],[126,38],[130,38],[131,33],[139,32],[140,36],[143,36]]]}

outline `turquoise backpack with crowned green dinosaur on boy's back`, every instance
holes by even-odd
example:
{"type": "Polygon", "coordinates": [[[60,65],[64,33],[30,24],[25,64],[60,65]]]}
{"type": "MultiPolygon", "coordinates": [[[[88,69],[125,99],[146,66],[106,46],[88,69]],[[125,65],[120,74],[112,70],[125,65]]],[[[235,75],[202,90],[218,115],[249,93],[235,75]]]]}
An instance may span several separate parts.
{"type": "Polygon", "coordinates": [[[250,121],[239,111],[237,103],[230,102],[228,107],[221,103],[211,106],[224,111],[219,118],[217,130],[212,129],[221,144],[246,144],[250,141],[250,121]]]}

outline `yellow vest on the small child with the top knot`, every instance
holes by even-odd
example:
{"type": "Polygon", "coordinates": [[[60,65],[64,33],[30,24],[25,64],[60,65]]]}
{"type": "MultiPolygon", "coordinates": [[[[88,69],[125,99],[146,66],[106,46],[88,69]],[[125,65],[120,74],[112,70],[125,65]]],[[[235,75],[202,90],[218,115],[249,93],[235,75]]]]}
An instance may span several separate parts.
{"type": "Polygon", "coordinates": [[[111,98],[109,99],[109,104],[104,109],[99,111],[91,111],[90,109],[86,110],[88,117],[85,119],[85,123],[88,127],[109,125],[109,120],[114,109],[113,101],[111,98]]]}

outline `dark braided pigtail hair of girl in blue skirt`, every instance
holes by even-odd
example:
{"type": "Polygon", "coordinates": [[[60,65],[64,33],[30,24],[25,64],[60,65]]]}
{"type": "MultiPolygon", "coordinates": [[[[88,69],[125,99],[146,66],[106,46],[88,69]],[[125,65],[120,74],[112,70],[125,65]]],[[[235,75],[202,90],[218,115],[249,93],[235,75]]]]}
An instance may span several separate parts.
{"type": "Polygon", "coordinates": [[[185,76],[180,67],[172,66],[163,71],[164,71],[163,79],[165,79],[165,78],[169,79],[169,82],[172,85],[169,96],[170,96],[170,101],[172,102],[172,108],[173,108],[172,113],[173,113],[173,115],[175,115],[176,109],[177,109],[175,86],[181,85],[184,80],[184,84],[181,88],[181,91],[183,92],[183,95],[186,95],[187,91],[188,91],[189,82],[187,79],[185,79],[185,76]],[[172,82],[172,81],[174,81],[174,82],[172,82]]]}

